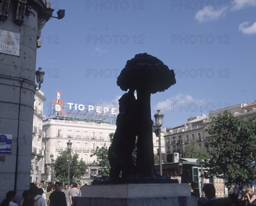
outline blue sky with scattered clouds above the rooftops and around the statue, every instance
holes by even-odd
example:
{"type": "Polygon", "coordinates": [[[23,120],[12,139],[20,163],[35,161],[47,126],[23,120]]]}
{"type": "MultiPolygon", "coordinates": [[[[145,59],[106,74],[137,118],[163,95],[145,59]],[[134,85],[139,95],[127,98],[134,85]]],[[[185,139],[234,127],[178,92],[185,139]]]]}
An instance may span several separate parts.
{"type": "Polygon", "coordinates": [[[65,9],[41,32],[41,89],[64,102],[116,103],[116,78],[126,61],[148,53],[176,73],[177,83],[151,95],[164,126],[256,99],[256,1],[51,1],[65,9]]]}

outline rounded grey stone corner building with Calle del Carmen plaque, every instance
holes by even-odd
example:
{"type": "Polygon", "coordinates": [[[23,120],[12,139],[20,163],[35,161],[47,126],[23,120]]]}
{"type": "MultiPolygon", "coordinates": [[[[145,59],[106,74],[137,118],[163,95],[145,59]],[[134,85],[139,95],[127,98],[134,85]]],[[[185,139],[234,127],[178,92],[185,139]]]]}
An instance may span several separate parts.
{"type": "Polygon", "coordinates": [[[0,1],[0,201],[29,189],[36,51],[49,0],[0,1]]]}

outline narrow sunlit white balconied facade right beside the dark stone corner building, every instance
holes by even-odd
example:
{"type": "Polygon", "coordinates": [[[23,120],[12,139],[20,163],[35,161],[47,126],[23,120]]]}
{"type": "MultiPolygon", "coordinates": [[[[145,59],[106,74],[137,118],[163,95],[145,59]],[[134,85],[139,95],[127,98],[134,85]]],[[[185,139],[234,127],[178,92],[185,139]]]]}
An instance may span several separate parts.
{"type": "Polygon", "coordinates": [[[42,150],[42,138],[45,100],[44,92],[41,90],[35,91],[30,182],[43,180],[45,151],[42,150]]]}

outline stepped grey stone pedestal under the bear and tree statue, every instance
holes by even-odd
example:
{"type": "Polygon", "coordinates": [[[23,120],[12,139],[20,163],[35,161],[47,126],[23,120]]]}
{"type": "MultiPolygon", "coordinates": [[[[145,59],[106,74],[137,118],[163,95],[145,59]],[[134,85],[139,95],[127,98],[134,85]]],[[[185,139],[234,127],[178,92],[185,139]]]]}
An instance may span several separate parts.
{"type": "Polygon", "coordinates": [[[188,183],[90,185],[77,206],[197,206],[188,183]]]}

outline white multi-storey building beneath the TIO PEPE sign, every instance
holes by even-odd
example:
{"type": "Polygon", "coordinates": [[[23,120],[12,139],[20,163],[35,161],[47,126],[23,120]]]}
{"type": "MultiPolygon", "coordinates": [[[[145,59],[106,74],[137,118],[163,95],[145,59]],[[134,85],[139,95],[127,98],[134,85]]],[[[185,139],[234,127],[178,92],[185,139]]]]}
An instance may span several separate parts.
{"type": "Polygon", "coordinates": [[[72,153],[79,156],[88,166],[87,178],[98,174],[98,167],[93,161],[96,157],[90,157],[96,147],[106,144],[108,147],[111,142],[109,134],[116,131],[116,125],[107,123],[96,123],[88,121],[74,121],[70,119],[46,119],[43,121],[42,150],[45,152],[45,180],[51,179],[51,159],[54,155],[56,159],[59,152],[67,149],[67,142],[72,142],[72,153]]]}

